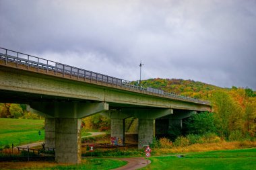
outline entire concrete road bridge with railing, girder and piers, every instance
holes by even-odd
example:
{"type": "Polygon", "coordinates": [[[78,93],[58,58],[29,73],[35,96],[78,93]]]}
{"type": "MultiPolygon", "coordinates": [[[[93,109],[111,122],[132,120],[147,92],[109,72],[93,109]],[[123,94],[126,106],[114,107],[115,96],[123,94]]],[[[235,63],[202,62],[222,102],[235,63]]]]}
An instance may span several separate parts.
{"type": "MultiPolygon", "coordinates": [[[[81,161],[81,118],[111,119],[111,136],[125,143],[124,120],[139,119],[138,147],[150,144],[155,120],[182,126],[193,112],[211,112],[199,99],[143,88],[131,82],[0,48],[0,102],[26,103],[45,118],[46,147],[61,163],[81,161]]],[[[168,126],[168,125],[167,125],[168,126]]]]}

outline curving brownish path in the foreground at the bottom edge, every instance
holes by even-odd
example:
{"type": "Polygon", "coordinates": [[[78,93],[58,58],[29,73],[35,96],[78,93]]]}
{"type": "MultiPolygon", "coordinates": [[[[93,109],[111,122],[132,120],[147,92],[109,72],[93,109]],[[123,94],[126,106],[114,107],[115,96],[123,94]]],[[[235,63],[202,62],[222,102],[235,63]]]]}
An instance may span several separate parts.
{"type": "Polygon", "coordinates": [[[115,158],[120,161],[127,161],[127,165],[123,167],[119,167],[117,169],[113,170],[135,170],[142,167],[146,167],[148,164],[150,164],[150,161],[147,161],[143,157],[137,157],[137,158],[115,158]]]}

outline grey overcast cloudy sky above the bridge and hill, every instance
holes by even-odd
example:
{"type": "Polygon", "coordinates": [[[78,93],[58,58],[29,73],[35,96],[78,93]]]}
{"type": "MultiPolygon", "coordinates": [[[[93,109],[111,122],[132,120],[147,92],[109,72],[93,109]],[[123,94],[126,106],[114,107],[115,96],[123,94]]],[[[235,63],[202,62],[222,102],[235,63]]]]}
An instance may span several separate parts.
{"type": "Polygon", "coordinates": [[[256,90],[256,0],[0,0],[0,46],[129,81],[256,90]]]}

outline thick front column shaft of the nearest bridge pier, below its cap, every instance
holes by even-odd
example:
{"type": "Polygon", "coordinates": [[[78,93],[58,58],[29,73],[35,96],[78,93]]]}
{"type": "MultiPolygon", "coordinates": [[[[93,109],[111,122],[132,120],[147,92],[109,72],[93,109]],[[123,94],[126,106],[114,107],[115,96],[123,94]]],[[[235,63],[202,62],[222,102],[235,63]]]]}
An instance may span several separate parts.
{"type": "Polygon", "coordinates": [[[57,163],[81,163],[81,119],[56,118],[57,163]]]}

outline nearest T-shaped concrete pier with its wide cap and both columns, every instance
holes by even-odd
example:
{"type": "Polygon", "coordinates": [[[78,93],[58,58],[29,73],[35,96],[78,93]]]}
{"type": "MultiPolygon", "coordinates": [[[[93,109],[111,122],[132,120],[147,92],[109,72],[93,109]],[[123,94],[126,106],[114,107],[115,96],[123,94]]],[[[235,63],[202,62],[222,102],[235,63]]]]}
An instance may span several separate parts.
{"type": "Polygon", "coordinates": [[[108,110],[108,104],[32,102],[28,110],[46,118],[46,147],[55,147],[55,161],[81,163],[81,118],[108,110]]]}

